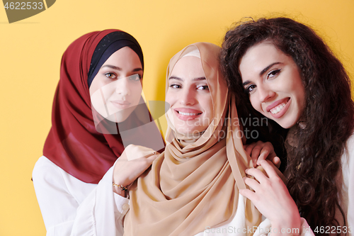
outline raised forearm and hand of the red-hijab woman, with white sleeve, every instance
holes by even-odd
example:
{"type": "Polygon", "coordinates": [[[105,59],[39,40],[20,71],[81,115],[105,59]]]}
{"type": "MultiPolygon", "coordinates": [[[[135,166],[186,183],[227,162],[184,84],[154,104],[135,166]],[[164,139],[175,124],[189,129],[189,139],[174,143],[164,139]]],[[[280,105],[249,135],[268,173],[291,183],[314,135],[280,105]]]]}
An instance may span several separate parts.
{"type": "Polygon", "coordinates": [[[123,235],[123,218],[129,210],[124,191],[113,186],[131,184],[152,164],[157,155],[147,147],[129,145],[90,195],[80,204],[72,236],[123,235]]]}

